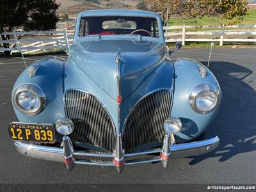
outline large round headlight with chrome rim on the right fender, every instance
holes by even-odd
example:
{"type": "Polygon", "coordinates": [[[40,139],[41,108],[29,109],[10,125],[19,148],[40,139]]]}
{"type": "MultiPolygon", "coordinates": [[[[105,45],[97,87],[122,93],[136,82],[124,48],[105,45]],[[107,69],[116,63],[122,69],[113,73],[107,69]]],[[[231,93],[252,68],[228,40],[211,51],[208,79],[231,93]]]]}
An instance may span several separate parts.
{"type": "Polygon", "coordinates": [[[211,113],[219,102],[220,91],[212,84],[200,84],[191,92],[189,102],[196,113],[211,113]]]}

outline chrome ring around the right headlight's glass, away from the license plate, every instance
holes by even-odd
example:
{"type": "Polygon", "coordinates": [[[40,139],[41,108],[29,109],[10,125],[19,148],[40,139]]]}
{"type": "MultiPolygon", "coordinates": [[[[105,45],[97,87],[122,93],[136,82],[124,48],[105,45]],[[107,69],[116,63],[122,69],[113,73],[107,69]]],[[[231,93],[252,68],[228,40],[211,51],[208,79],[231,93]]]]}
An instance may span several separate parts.
{"type": "Polygon", "coordinates": [[[190,93],[190,96],[189,96],[189,103],[190,103],[191,108],[196,113],[200,113],[200,114],[211,113],[212,111],[214,111],[214,109],[216,109],[216,107],[218,106],[219,102],[220,102],[220,90],[218,88],[216,88],[216,86],[214,86],[212,84],[200,84],[200,85],[196,86],[192,90],[192,92],[190,93]],[[201,111],[196,106],[196,98],[202,92],[212,92],[216,96],[216,102],[207,111],[201,111]]]}

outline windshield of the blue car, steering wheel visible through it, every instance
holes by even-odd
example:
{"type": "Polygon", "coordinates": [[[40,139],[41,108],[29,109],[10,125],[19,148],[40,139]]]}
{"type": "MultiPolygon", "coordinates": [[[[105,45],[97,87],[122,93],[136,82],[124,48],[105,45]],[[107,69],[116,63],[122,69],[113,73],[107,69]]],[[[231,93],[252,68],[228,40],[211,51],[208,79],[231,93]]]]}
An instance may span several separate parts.
{"type": "Polygon", "coordinates": [[[150,17],[82,17],[79,36],[141,35],[159,38],[156,18],[150,17]]]}

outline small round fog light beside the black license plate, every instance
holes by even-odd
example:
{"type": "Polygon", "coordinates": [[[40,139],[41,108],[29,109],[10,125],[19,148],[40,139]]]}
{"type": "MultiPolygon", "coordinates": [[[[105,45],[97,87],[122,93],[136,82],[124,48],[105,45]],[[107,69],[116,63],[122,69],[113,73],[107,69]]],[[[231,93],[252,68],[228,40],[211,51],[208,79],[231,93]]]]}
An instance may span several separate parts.
{"type": "Polygon", "coordinates": [[[61,118],[56,121],[55,124],[56,131],[58,131],[62,135],[71,134],[74,130],[73,122],[68,118],[61,118]]]}

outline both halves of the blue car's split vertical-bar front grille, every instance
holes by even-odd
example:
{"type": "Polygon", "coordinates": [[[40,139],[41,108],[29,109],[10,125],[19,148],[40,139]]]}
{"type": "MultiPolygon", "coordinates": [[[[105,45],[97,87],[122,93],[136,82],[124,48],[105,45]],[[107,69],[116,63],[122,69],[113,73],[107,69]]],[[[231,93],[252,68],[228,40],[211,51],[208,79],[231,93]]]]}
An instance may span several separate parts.
{"type": "MultiPolygon", "coordinates": [[[[113,152],[115,127],[102,104],[81,90],[68,90],[64,100],[66,116],[75,126],[70,139],[113,152]]],[[[163,123],[170,115],[171,100],[170,90],[157,90],[134,106],[124,124],[122,140],[125,154],[132,149],[138,150],[141,145],[163,140],[163,123]]]]}

